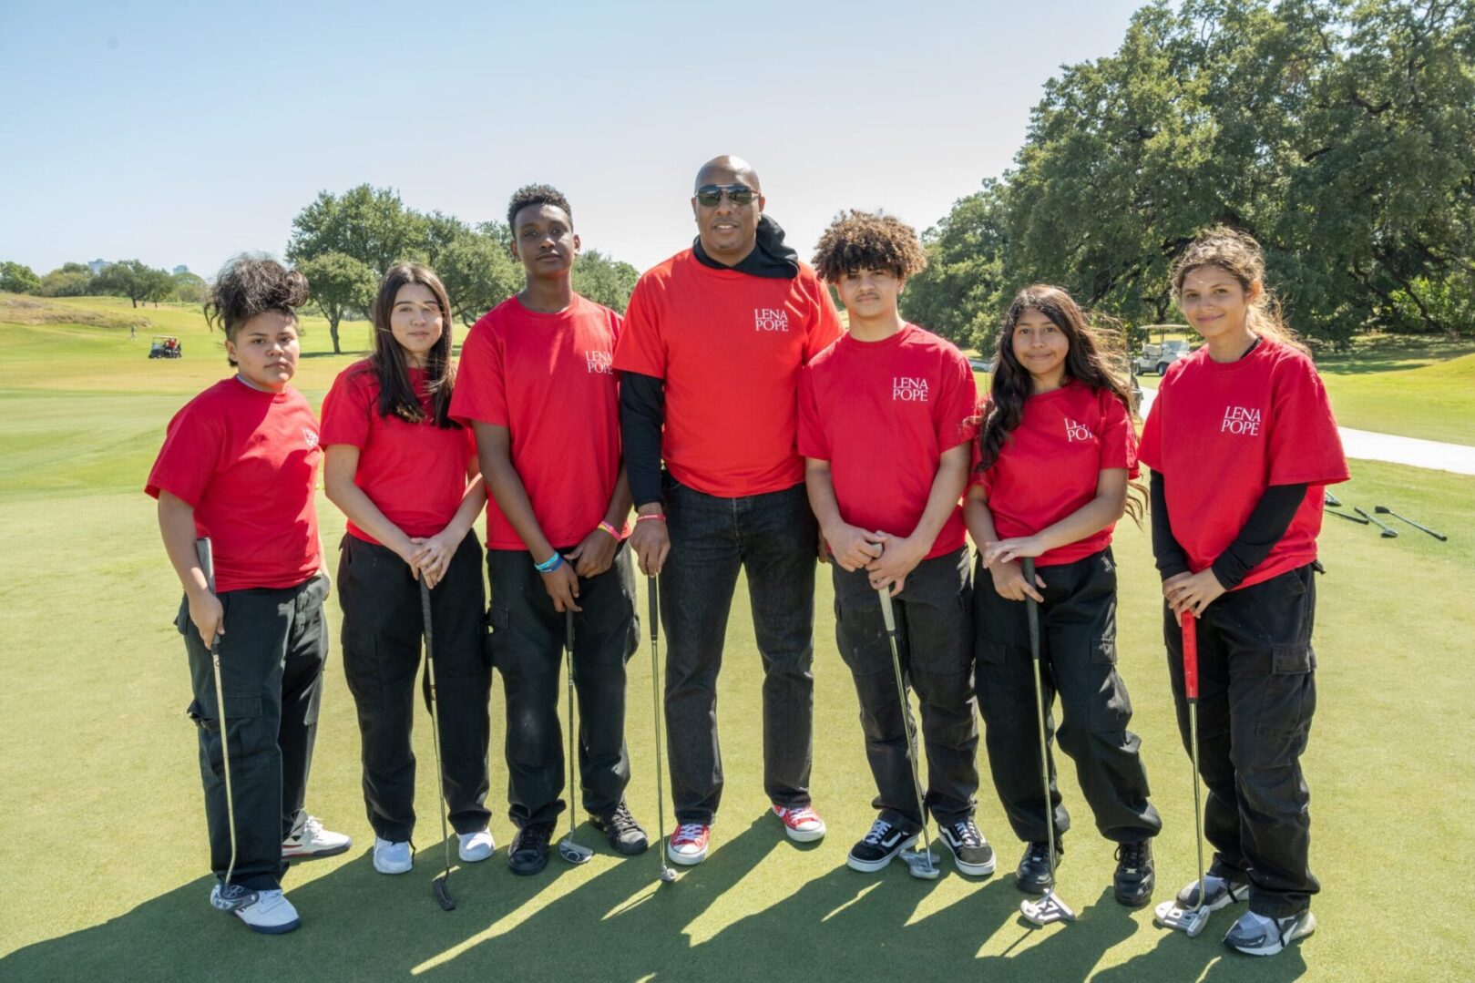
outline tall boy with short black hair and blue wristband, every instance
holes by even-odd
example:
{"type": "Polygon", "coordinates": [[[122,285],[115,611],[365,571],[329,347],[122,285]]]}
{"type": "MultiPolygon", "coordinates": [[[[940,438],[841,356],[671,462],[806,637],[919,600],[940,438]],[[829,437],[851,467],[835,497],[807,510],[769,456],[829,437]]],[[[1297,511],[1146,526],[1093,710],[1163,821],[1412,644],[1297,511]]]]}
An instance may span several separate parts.
{"type": "MultiPolygon", "coordinates": [[[[478,320],[462,348],[451,416],[472,427],[487,503],[490,652],[506,685],[513,874],[547,866],[563,810],[559,661],[574,613],[584,809],[620,853],[642,853],[630,815],[625,661],[639,627],[625,549],[630,486],[620,461],[620,314],[569,283],[578,255],[568,199],[519,189],[507,210],[527,286],[478,320]]],[[[569,791],[572,799],[572,790],[569,791]]]]}

